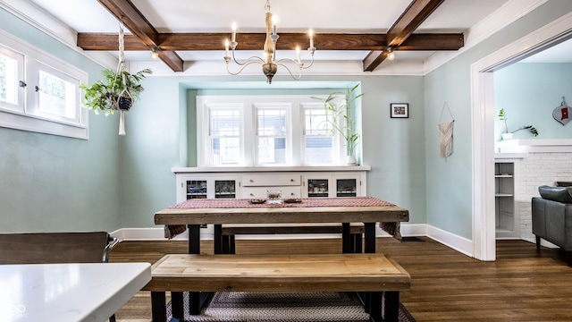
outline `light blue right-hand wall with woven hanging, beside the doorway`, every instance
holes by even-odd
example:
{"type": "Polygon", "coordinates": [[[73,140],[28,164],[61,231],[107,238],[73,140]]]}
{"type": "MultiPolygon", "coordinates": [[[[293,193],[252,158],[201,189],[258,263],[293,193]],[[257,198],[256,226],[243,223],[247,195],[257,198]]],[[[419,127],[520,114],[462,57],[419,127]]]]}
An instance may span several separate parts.
{"type": "Polygon", "coordinates": [[[570,12],[572,1],[548,1],[425,76],[428,225],[472,239],[471,64],[570,12]],[[455,118],[454,152],[447,161],[438,154],[437,123],[444,102],[455,118]]]}

